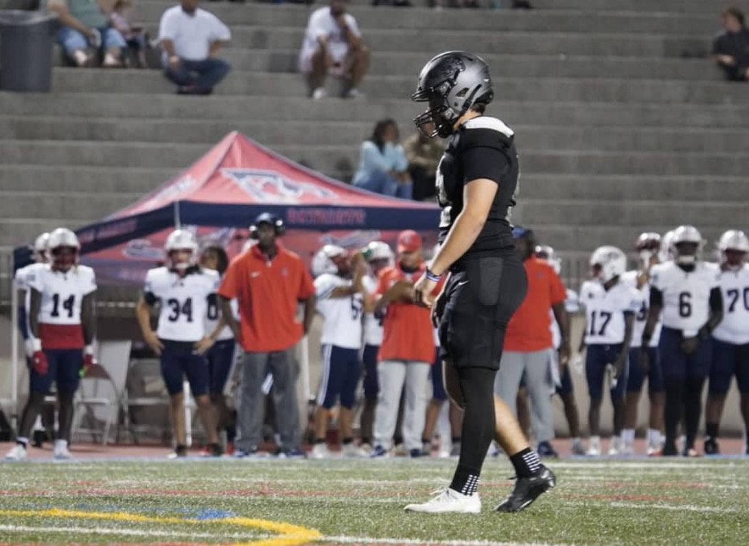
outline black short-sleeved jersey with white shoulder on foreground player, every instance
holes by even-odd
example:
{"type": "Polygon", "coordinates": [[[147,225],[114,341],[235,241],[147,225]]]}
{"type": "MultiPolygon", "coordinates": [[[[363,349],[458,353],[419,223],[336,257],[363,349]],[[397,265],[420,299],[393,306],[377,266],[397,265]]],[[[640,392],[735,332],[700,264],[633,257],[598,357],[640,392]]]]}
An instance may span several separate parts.
{"type": "Polygon", "coordinates": [[[464,258],[512,251],[510,213],[518,189],[518,153],[515,133],[495,117],[479,116],[462,123],[452,135],[437,168],[437,199],[442,208],[440,244],[445,240],[455,218],[463,210],[463,188],[478,178],[499,184],[494,203],[476,242],[464,258]]]}

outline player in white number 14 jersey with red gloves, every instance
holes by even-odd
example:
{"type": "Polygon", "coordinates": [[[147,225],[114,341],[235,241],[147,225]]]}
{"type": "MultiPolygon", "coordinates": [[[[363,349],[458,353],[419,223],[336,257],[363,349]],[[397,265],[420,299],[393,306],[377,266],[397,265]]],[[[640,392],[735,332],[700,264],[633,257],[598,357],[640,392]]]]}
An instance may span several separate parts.
{"type": "Polygon", "coordinates": [[[96,315],[94,270],[78,265],[80,245],[70,230],[58,228],[49,236],[51,264],[25,275],[31,291],[28,325],[33,343],[29,396],[23,410],[16,447],[7,458],[25,457],[28,434],[52,381],[59,401],[55,458],[70,458],[67,444],[73,425],[73,395],[82,375],[94,365],[96,315]]]}

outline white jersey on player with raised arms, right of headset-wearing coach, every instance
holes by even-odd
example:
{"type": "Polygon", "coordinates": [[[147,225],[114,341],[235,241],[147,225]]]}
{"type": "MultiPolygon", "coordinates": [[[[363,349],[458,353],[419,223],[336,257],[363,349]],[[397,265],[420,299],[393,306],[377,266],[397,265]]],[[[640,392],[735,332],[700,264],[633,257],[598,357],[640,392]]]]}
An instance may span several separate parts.
{"type": "Polygon", "coordinates": [[[338,275],[324,273],[315,279],[317,310],[323,316],[323,335],[320,343],[335,345],[343,349],[362,347],[362,310],[364,298],[361,294],[345,298],[331,298],[338,286],[351,286],[354,281],[338,275]]]}

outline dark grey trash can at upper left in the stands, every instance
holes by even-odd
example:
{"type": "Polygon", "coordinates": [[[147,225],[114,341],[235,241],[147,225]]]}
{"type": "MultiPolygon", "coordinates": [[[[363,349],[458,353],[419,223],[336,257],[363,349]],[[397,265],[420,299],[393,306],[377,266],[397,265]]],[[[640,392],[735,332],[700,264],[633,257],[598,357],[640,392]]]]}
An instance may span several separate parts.
{"type": "Polygon", "coordinates": [[[49,91],[55,28],[53,13],[0,11],[0,90],[49,91]]]}

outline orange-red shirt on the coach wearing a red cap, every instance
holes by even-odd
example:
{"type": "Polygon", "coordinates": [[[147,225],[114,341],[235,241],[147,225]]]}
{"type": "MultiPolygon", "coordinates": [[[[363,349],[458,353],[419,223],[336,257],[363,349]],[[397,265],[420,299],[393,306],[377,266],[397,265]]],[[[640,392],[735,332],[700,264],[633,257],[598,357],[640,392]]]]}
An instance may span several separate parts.
{"type": "MultiPolygon", "coordinates": [[[[380,272],[377,295],[383,295],[398,280],[416,283],[422,276],[425,264],[413,273],[406,273],[400,267],[388,267],[380,272]]],[[[440,293],[440,280],[432,292],[440,293]]],[[[408,301],[393,301],[386,308],[383,320],[383,339],[378,361],[421,361],[434,362],[434,326],[431,324],[431,310],[419,307],[408,301]]]]}

